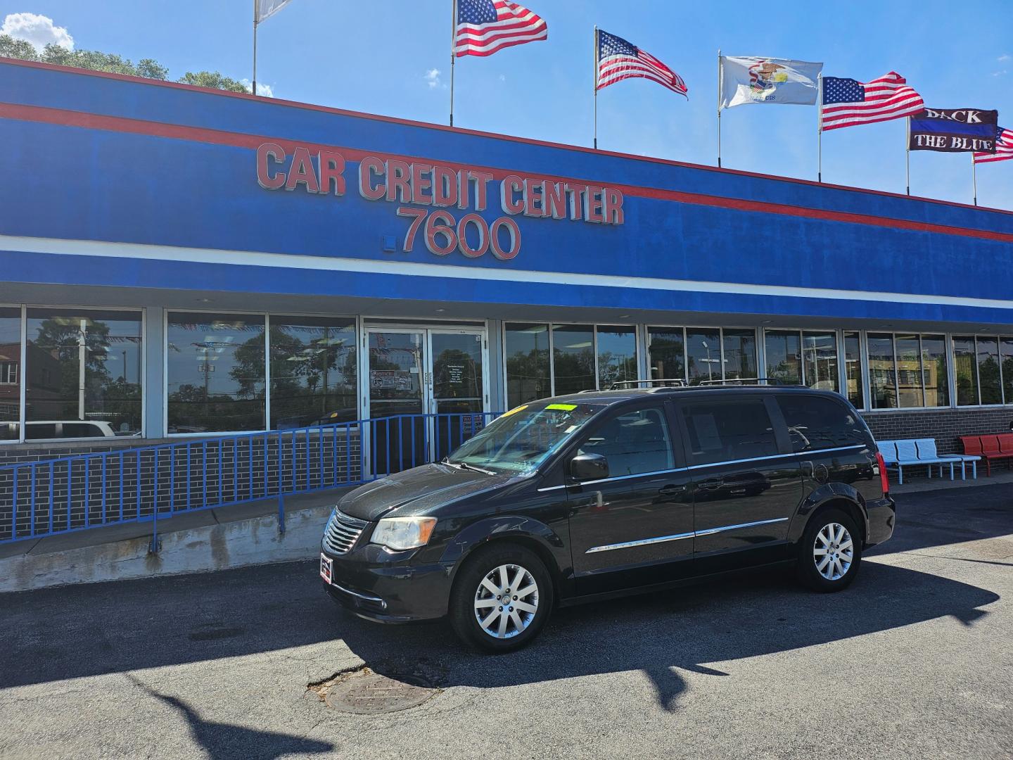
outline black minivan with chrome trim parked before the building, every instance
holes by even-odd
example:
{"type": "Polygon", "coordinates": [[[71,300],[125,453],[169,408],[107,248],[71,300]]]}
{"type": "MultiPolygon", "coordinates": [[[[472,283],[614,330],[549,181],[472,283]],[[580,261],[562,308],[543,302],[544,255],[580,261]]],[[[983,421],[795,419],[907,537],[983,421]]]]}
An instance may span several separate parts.
{"type": "Polygon", "coordinates": [[[362,617],[449,615],[506,651],[556,604],[744,567],[793,562],[839,591],[893,522],[875,441],[837,393],[594,391],[518,406],[442,462],[344,496],[320,575],[362,617]]]}

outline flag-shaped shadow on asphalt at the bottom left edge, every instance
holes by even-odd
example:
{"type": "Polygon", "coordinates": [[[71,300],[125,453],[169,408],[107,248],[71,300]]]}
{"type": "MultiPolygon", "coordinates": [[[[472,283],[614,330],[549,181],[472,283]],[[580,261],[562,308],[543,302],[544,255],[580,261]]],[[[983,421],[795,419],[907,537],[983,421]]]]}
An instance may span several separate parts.
{"type": "Polygon", "coordinates": [[[233,724],[205,720],[182,699],[155,691],[130,673],[127,674],[127,678],[149,696],[181,713],[186,718],[193,742],[204,748],[211,760],[254,757],[272,760],[296,753],[300,757],[318,755],[334,749],[334,745],[329,742],[317,742],[274,731],[256,731],[233,724]]]}

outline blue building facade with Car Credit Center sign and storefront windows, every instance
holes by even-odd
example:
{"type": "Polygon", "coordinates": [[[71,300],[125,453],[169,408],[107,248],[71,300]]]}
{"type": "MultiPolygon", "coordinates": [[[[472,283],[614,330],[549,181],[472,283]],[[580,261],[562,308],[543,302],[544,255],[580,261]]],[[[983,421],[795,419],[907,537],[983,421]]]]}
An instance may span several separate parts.
{"type": "Polygon", "coordinates": [[[637,378],[1013,419],[1013,214],[0,61],[0,461],[637,378]]]}

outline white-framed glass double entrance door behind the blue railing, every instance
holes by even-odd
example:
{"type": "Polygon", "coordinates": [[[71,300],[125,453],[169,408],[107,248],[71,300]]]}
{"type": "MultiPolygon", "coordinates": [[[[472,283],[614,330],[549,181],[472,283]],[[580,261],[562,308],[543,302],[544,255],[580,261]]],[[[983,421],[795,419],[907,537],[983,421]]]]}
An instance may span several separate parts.
{"type": "Polygon", "coordinates": [[[376,474],[439,461],[484,424],[484,329],[366,330],[365,454],[376,474]]]}

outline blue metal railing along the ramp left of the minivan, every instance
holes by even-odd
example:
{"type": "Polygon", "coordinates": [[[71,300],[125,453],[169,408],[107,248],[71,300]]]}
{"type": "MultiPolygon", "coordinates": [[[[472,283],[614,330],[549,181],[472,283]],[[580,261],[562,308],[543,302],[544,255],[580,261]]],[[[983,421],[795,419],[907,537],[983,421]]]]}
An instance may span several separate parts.
{"type": "Polygon", "coordinates": [[[396,414],[0,467],[0,544],[360,485],[439,460],[500,412],[396,414]]]}

